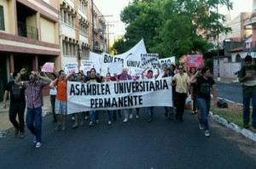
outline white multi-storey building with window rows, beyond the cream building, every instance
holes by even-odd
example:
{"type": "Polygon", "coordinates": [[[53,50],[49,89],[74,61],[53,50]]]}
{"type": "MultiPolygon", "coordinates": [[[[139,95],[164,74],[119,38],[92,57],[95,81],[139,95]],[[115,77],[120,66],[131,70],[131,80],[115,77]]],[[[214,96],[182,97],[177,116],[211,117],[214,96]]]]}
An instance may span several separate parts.
{"type": "Polygon", "coordinates": [[[89,59],[90,51],[106,52],[106,20],[91,0],[61,0],[61,68],[89,59]]]}

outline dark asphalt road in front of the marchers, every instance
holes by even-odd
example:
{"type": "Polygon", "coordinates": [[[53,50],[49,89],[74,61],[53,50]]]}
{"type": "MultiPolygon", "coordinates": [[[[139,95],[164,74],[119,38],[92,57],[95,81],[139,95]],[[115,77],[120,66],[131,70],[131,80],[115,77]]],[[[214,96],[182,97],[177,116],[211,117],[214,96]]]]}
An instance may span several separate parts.
{"type": "Polygon", "coordinates": [[[14,135],[0,139],[0,168],[256,168],[256,156],[248,153],[256,152],[252,141],[214,121],[211,137],[206,138],[189,111],[183,122],[166,119],[162,107],[154,109],[152,122],[145,109],[140,119],[127,123],[122,119],[108,126],[107,114],[101,112],[96,126],[88,127],[87,121],[72,129],[69,116],[67,130],[54,132],[52,116],[45,116],[41,148],[35,149],[27,129],[24,139],[14,135]]]}

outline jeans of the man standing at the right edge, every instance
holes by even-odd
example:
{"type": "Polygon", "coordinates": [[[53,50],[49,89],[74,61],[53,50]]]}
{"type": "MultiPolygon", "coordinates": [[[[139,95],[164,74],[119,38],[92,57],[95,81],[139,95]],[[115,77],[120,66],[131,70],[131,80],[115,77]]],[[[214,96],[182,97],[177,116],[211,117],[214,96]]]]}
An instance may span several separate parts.
{"type": "Polygon", "coordinates": [[[242,91],[242,100],[243,100],[243,123],[247,124],[250,121],[250,103],[252,99],[253,104],[253,125],[256,125],[256,91],[245,93],[242,91]]]}

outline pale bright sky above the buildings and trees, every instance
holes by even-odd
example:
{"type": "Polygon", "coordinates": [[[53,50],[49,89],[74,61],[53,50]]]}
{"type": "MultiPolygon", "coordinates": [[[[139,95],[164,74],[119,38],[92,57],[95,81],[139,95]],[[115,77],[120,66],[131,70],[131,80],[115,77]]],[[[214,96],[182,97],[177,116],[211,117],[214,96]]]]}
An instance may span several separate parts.
{"type": "MultiPolygon", "coordinates": [[[[113,17],[105,17],[109,25],[111,25],[109,26],[110,41],[125,34],[125,25],[120,21],[119,14],[125,6],[128,6],[129,2],[132,2],[132,0],[94,0],[96,7],[103,15],[113,15],[113,17]]],[[[222,14],[231,13],[236,16],[241,12],[253,11],[253,0],[230,0],[230,2],[233,2],[232,11],[229,12],[224,7],[219,7],[219,12],[222,14]]]]}

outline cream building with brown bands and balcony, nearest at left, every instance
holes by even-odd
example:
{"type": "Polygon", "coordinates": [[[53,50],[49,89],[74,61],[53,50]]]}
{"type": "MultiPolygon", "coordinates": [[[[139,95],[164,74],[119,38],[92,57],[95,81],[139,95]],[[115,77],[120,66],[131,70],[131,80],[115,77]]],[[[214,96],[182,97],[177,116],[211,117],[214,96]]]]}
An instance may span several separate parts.
{"type": "Polygon", "coordinates": [[[54,0],[0,1],[0,100],[10,72],[60,65],[58,14],[54,0]]]}

